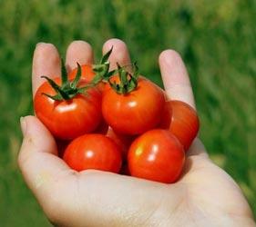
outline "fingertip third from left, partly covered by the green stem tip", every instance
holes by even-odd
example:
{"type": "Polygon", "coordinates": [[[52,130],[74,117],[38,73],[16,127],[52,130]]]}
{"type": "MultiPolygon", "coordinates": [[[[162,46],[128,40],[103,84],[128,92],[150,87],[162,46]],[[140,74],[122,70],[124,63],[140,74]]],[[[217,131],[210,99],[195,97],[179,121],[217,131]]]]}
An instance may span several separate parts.
{"type": "Polygon", "coordinates": [[[122,65],[130,64],[130,57],[127,45],[119,39],[109,39],[102,48],[106,54],[113,46],[113,51],[109,56],[110,70],[117,68],[117,63],[122,65]]]}

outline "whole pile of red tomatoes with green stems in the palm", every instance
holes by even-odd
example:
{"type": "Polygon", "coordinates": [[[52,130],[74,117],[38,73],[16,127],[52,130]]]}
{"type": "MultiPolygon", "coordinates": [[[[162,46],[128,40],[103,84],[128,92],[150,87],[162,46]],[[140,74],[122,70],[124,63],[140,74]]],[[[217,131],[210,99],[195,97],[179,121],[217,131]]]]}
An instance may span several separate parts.
{"type": "Polygon", "coordinates": [[[137,64],[109,71],[109,54],[99,64],[77,64],[70,74],[63,66],[61,78],[44,76],[36,116],[57,139],[68,141],[63,159],[74,170],[177,181],[199,130],[196,112],[167,101],[159,86],[138,75],[137,64]]]}

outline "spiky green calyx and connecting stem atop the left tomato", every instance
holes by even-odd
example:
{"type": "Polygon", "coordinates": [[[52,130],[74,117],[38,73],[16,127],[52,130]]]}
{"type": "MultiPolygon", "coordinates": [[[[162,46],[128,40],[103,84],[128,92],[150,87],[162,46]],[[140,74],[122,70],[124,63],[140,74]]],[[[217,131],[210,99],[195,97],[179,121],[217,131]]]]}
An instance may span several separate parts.
{"type": "Polygon", "coordinates": [[[70,100],[74,98],[77,94],[86,94],[87,89],[93,86],[96,86],[101,81],[108,81],[108,78],[115,74],[115,70],[109,72],[109,62],[108,57],[111,54],[113,47],[108,51],[107,54],[103,55],[99,64],[93,65],[93,71],[96,73],[94,79],[88,83],[86,86],[77,87],[81,79],[81,65],[77,63],[77,74],[75,79],[70,82],[67,76],[67,70],[62,59],[61,61],[61,85],[56,84],[56,82],[49,77],[43,75],[42,78],[45,78],[47,82],[55,90],[56,95],[45,94],[47,97],[55,100],[70,100]]]}

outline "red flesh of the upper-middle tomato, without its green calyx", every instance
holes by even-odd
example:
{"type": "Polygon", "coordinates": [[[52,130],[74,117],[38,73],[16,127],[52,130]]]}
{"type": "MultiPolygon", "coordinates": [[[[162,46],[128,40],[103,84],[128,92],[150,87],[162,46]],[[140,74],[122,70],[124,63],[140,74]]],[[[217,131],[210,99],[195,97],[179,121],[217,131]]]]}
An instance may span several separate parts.
{"type": "Polygon", "coordinates": [[[102,114],[115,132],[135,135],[147,132],[159,123],[164,104],[164,94],[157,85],[138,79],[138,87],[128,94],[106,89],[102,114]]]}

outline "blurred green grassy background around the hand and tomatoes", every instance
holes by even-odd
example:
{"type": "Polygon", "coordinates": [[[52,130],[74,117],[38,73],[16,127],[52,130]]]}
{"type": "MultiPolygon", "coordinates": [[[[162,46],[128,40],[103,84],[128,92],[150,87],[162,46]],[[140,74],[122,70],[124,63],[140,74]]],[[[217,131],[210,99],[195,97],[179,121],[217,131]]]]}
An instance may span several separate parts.
{"type": "Polygon", "coordinates": [[[200,137],[215,163],[240,184],[256,213],[256,1],[0,0],[1,226],[50,226],[16,166],[19,117],[32,114],[36,43],[65,55],[74,39],[128,44],[142,74],[161,85],[158,56],[177,50],[188,66],[200,137]]]}

